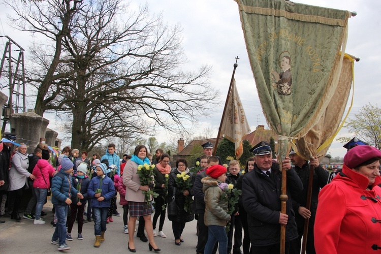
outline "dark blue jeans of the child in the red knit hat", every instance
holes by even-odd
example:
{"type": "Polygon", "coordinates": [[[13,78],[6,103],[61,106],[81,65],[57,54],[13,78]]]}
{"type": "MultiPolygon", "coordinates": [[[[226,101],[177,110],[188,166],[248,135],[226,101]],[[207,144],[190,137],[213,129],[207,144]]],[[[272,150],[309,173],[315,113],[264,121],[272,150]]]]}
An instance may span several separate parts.
{"type": "Polygon", "coordinates": [[[208,226],[208,241],[206,242],[204,254],[211,254],[215,242],[218,241],[218,253],[227,253],[228,235],[223,226],[208,226]]]}

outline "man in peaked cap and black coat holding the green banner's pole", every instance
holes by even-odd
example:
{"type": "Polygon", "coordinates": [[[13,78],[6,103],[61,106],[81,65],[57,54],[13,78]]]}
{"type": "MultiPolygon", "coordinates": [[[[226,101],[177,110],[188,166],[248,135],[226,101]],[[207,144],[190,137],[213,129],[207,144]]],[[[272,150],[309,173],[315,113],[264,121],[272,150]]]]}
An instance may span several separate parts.
{"type": "Polygon", "coordinates": [[[260,142],[250,150],[254,153],[254,169],[242,179],[242,203],[247,211],[247,222],[252,253],[279,253],[280,225],[287,225],[286,252],[289,242],[297,239],[298,230],[292,211],[292,197],[303,189],[303,183],[291,168],[290,158],[285,157],[282,168],[287,170],[286,214],[281,213],[281,171],[273,164],[269,143],[260,142]]]}

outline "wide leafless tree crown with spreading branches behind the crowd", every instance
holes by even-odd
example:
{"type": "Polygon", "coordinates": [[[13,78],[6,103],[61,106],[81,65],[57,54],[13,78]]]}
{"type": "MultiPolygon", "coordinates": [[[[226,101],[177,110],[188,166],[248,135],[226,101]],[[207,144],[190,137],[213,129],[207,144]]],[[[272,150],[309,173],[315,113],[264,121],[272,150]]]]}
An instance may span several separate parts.
{"type": "Polygon", "coordinates": [[[181,28],[121,2],[7,2],[14,27],[45,37],[29,69],[36,112],[66,120],[73,147],[89,150],[106,137],[137,138],[157,126],[179,132],[214,106],[209,67],[181,70],[181,28]]]}

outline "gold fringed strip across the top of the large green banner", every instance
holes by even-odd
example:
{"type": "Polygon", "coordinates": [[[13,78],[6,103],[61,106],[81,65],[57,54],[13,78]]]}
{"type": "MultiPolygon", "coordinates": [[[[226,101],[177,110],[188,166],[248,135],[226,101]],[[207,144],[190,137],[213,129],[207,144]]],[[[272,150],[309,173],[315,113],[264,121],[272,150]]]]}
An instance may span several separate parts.
{"type": "Polygon", "coordinates": [[[351,17],[351,13],[348,11],[346,12],[344,19],[335,19],[335,18],[326,18],[326,17],[321,17],[321,16],[315,16],[315,15],[305,15],[305,14],[293,13],[293,12],[288,12],[285,10],[275,10],[272,8],[270,9],[270,8],[247,6],[247,5],[242,5],[240,3],[238,3],[238,5],[239,5],[239,10],[244,11],[246,13],[271,15],[271,16],[276,16],[276,17],[285,17],[285,18],[293,19],[293,20],[321,23],[321,24],[326,24],[326,25],[339,25],[339,26],[343,26],[343,27],[347,25],[348,18],[351,17]]]}

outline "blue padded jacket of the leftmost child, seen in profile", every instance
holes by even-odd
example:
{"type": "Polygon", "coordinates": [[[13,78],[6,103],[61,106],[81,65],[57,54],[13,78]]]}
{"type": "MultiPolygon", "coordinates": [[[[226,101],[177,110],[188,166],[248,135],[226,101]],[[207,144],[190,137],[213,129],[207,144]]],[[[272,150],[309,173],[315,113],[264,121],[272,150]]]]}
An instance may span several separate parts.
{"type": "Polygon", "coordinates": [[[54,205],[67,205],[67,198],[76,196],[78,190],[73,185],[73,179],[70,174],[60,170],[52,178],[52,203],[54,205]]]}

